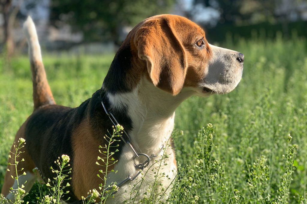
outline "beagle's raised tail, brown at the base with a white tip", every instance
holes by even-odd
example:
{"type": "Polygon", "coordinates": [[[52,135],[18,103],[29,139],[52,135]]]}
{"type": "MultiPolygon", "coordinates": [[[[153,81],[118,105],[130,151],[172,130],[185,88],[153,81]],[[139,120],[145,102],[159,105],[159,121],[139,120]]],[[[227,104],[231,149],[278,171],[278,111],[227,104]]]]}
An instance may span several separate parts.
{"type": "Polygon", "coordinates": [[[23,25],[29,45],[29,58],[33,81],[34,110],[44,106],[56,104],[47,81],[44,64],[41,58],[41,47],[32,18],[29,16],[23,25]]]}

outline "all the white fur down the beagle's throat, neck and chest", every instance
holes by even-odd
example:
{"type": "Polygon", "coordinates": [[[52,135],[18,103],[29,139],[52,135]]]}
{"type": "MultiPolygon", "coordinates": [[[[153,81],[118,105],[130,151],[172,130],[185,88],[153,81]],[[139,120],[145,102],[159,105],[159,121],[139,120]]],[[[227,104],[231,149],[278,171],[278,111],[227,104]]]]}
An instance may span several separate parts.
{"type": "MultiPolygon", "coordinates": [[[[129,93],[108,94],[113,109],[127,107],[127,112],[132,120],[130,131],[131,142],[139,153],[147,155],[156,154],[164,145],[162,152],[152,159],[140,176],[133,181],[125,183],[119,188],[115,198],[110,198],[108,203],[124,203],[125,201],[138,203],[150,195],[164,194],[162,200],[167,198],[173,179],[177,174],[175,153],[170,145],[170,137],[174,128],[174,116],[177,106],[190,96],[190,91],[182,91],[177,96],[172,96],[154,87],[146,78],[142,78],[139,86],[129,93]]],[[[112,111],[112,110],[111,110],[112,111]]],[[[115,164],[115,174],[108,174],[109,182],[120,183],[128,176],[134,176],[138,169],[134,166],[133,152],[129,145],[122,148],[119,161],[115,164]]],[[[142,157],[136,163],[142,163],[142,157]]],[[[157,197],[160,199],[160,197],[157,197]]],[[[157,201],[157,200],[156,200],[157,201]]]]}

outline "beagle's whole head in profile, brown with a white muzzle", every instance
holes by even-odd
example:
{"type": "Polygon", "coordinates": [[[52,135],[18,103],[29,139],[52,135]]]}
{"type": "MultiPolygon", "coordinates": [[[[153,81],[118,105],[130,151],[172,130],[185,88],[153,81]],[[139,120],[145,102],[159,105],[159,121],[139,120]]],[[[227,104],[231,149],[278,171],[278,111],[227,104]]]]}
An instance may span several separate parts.
{"type": "Polygon", "coordinates": [[[173,95],[184,87],[201,96],[228,93],[242,77],[244,55],[210,45],[204,30],[184,17],[153,16],[130,35],[147,78],[173,95]]]}

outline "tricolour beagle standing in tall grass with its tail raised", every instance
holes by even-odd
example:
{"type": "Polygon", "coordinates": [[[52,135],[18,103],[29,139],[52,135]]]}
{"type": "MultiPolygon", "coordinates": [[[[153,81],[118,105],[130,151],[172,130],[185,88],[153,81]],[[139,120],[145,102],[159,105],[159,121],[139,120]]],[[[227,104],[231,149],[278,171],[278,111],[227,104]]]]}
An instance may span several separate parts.
{"type": "MultiPolygon", "coordinates": [[[[41,177],[52,179],[50,166],[60,155],[70,157],[72,178],[69,183],[68,202],[80,200],[90,189],[98,189],[102,180],[97,178],[100,166],[96,165],[99,145],[104,146],[104,135],[113,131],[108,112],[130,136],[130,144],[138,153],[154,155],[158,160],[163,154],[167,165],[159,174],[167,178],[158,179],[159,186],[166,190],[162,200],[172,188],[177,174],[171,133],[174,127],[175,109],[190,96],[210,96],[232,91],[239,83],[243,72],[244,55],[208,43],[205,32],[185,17],[157,15],[136,25],[117,51],[101,89],[77,108],[56,105],[48,85],[41,57],[35,25],[30,17],[24,24],[29,45],[29,59],[33,80],[34,111],[18,130],[18,138],[26,140],[18,164],[26,175],[25,190],[29,191],[35,181],[33,168],[38,168],[41,177]],[[102,104],[103,102],[103,104],[102,104]],[[104,110],[104,108],[106,110],[104,110]],[[163,151],[161,151],[163,149],[163,151]]],[[[108,174],[108,181],[120,183],[139,172],[135,163],[147,158],[134,157],[135,153],[123,140],[116,142],[119,151],[113,155],[117,163],[108,174]],[[115,173],[117,172],[117,173],[115,173]]],[[[13,146],[11,151],[13,151],[13,146]]],[[[10,159],[9,159],[10,161],[10,159]]],[[[155,165],[150,158],[148,164],[155,165]]],[[[147,171],[145,165],[143,172],[147,171]]],[[[10,187],[17,183],[12,166],[6,172],[1,193],[14,200],[10,187]]],[[[138,179],[145,180],[138,186],[137,179],[129,180],[119,187],[107,203],[124,203],[130,197],[131,187],[139,188],[135,201],[155,182],[148,173],[138,179]]]]}

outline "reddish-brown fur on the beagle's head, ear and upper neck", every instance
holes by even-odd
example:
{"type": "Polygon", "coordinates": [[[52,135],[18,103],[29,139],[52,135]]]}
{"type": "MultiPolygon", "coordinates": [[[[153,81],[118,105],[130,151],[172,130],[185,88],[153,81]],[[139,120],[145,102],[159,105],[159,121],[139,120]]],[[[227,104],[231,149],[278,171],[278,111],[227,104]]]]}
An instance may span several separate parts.
{"type": "Polygon", "coordinates": [[[204,30],[186,18],[173,15],[154,16],[141,22],[130,31],[125,44],[130,45],[134,56],[134,69],[126,75],[130,90],[143,74],[155,86],[173,95],[184,85],[197,87],[212,56],[204,30]],[[201,38],[206,44],[205,51],[193,47],[201,38]]]}

